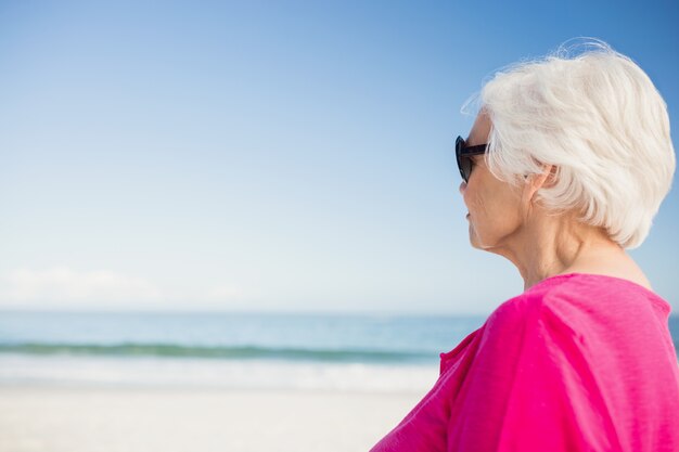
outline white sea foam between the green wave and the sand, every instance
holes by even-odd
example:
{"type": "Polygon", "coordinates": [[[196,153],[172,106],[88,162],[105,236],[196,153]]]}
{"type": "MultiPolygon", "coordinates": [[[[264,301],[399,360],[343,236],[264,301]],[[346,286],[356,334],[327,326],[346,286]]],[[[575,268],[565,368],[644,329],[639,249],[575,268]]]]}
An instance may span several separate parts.
{"type": "Polygon", "coordinates": [[[0,356],[0,384],[149,385],[232,389],[326,389],[371,392],[423,391],[438,376],[435,365],[0,356]]]}

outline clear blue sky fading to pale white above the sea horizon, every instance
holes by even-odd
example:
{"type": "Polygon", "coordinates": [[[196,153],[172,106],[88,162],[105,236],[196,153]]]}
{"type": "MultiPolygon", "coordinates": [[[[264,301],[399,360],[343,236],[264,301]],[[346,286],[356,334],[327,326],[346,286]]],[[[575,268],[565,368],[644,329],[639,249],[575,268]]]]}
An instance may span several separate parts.
{"type": "MultiPolygon", "coordinates": [[[[469,245],[461,105],[590,36],[676,131],[678,21],[669,1],[0,2],[0,308],[487,313],[523,281],[469,245]]],[[[674,189],[631,251],[675,309],[678,212],[674,189]]]]}

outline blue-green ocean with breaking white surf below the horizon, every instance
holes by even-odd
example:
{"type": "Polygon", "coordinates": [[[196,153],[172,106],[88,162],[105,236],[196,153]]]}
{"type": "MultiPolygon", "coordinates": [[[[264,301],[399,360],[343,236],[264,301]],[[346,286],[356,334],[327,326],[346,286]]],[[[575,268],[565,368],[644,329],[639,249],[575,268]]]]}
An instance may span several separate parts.
{"type": "Polygon", "coordinates": [[[0,384],[423,391],[485,319],[0,312],[0,384]]]}

